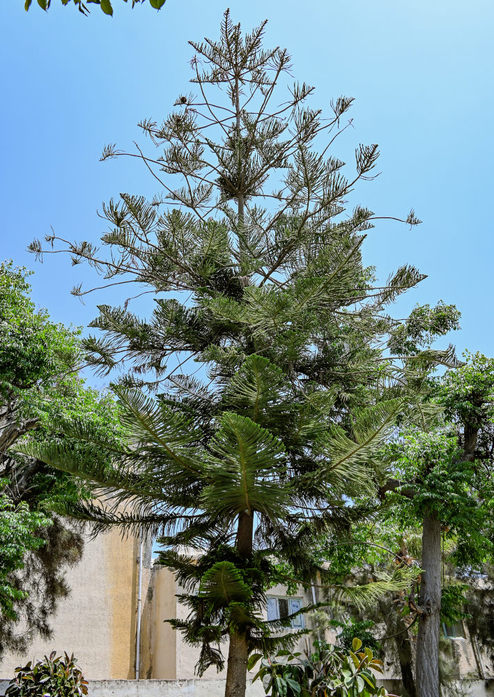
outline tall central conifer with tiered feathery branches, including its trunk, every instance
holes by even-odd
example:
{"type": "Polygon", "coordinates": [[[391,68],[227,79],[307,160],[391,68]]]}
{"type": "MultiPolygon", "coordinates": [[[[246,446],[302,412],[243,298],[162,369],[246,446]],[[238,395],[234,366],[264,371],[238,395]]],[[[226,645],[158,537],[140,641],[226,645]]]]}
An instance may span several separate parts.
{"type": "MultiPolygon", "coordinates": [[[[364,232],[378,217],[345,205],[373,178],[378,148],[358,146],[350,176],[329,154],[353,100],[332,102],[328,119],[308,105],[307,84],[275,102],[290,56],[263,48],[264,26],[242,36],[226,12],[219,41],[192,43],[197,95],[179,95],[161,125],[141,124],[158,152],[128,155],[161,194],[105,204],[102,247],[56,236],[46,250],[31,245],[86,260],[109,285],[138,284],[155,302],[147,320],[128,302],[100,305],[92,326],[102,333],[83,342],[101,374],[128,369],[114,386],[123,445],[70,418],[59,420],[70,443],[18,448],[111,493],[118,509],[70,509],[97,531],[160,537],[161,562],[190,608],[173,625],[201,648],[199,672],[223,666],[229,639],[226,697],[244,696],[251,652],[296,638],[278,633],[291,618],[261,617],[277,561],[297,581],[325,579],[311,545],[364,515],[349,500],[373,491],[376,448],[406,399],[400,385],[418,367],[453,360],[451,350],[420,349],[429,330],[450,328],[435,327],[440,308],[424,310],[429,325],[415,335],[415,325],[397,335],[400,322],[385,312],[422,275],[403,266],[383,286],[362,263],[364,232]],[[403,349],[396,360],[383,354],[387,344],[403,349]],[[394,385],[391,399],[380,399],[383,383],[394,385]],[[199,559],[173,546],[193,546],[199,559]]],[[[119,154],[110,145],[102,159],[119,154]]],[[[411,212],[402,222],[419,221],[411,212]]],[[[375,592],[408,584],[401,570],[375,592]]]]}

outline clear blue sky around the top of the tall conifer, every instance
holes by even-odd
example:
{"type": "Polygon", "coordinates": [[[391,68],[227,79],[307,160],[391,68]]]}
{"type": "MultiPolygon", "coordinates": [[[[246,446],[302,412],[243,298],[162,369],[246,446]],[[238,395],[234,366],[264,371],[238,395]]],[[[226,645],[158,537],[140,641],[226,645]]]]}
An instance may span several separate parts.
{"type": "MultiPolygon", "coordinates": [[[[0,258],[36,270],[34,299],[52,317],[86,324],[102,294],[82,306],[70,296],[90,270],[26,252],[53,226],[68,238],[98,240],[96,210],[118,192],[153,194],[135,160],[100,163],[102,146],[144,140],[137,121],[169,112],[188,91],[188,39],[215,38],[226,0],[168,0],[131,10],[114,0],[114,18],[97,6],[89,17],[52,0],[2,0],[0,258]]],[[[288,47],[295,77],[317,88],[328,107],[355,97],[355,128],[336,154],[347,161],[359,142],[380,145],[383,174],[362,186],[361,204],[380,215],[424,221],[409,231],[383,222],[369,233],[365,261],[380,277],[413,263],[429,277],[401,302],[442,298],[462,312],[458,347],[494,355],[493,29],[491,0],[230,0],[234,20],[250,29],[269,21],[267,45],[288,47]]],[[[125,296],[120,296],[125,297],[125,296]]],[[[114,293],[111,300],[118,300],[114,293]]]]}

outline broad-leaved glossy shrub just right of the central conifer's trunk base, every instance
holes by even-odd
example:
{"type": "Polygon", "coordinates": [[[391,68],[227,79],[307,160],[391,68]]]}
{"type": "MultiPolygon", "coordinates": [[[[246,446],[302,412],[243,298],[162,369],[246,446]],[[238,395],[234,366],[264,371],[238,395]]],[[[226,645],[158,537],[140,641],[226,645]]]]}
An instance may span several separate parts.
{"type": "MultiPolygon", "coordinates": [[[[360,639],[354,638],[348,651],[325,642],[315,645],[316,652],[306,657],[290,652],[281,652],[275,659],[264,657],[254,680],[263,681],[270,697],[396,697],[376,686],[372,671],[382,673],[383,664],[369,648],[362,648],[360,639]]],[[[249,669],[259,658],[252,656],[249,669]]]]}

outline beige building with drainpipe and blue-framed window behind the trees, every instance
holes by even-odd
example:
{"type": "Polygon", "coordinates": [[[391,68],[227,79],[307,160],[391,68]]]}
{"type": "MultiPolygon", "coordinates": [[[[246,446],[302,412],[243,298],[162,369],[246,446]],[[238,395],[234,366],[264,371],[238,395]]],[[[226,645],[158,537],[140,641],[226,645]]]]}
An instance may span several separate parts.
{"type": "MultiPolygon", "coordinates": [[[[122,539],[116,532],[88,540],[82,562],[68,572],[72,592],[61,602],[53,618],[52,638],[49,641],[38,638],[27,656],[6,655],[0,661],[0,680],[12,677],[16,666],[43,657],[52,650],[74,653],[88,680],[134,680],[138,654],[141,680],[192,680],[196,677],[198,650],[187,645],[182,634],[165,621],[185,618],[187,609],[176,597],[182,589],[168,569],[153,563],[150,544],[143,545],[142,555],[140,550],[138,539],[122,539]]],[[[268,592],[265,616],[274,619],[291,614],[301,606],[317,602],[320,592],[318,588],[304,590],[300,586],[295,595],[288,596],[284,586],[272,588],[268,592]]],[[[310,615],[299,615],[292,622],[292,631],[304,627],[315,629],[310,615]]],[[[452,678],[487,680],[494,677],[490,659],[468,637],[463,625],[445,625],[442,629],[445,635],[443,657],[451,666],[452,678]]],[[[334,632],[325,632],[325,638],[334,643],[334,632]]],[[[310,635],[299,639],[297,650],[307,650],[309,641],[310,635]]],[[[225,654],[227,650],[225,645],[225,654]]],[[[386,661],[383,677],[396,680],[399,678],[397,670],[392,661],[386,661]]],[[[222,677],[224,674],[209,668],[203,679],[222,677]]],[[[397,684],[389,683],[389,687],[397,687],[397,684]]]]}

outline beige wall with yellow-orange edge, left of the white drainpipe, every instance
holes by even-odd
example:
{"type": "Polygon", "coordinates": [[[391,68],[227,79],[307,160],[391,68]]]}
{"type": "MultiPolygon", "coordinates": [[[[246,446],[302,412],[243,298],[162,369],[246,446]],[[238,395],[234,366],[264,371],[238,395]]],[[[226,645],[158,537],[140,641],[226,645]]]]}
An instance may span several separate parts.
{"type": "Polygon", "coordinates": [[[0,678],[13,677],[16,666],[52,650],[73,652],[89,680],[133,678],[138,557],[134,537],[121,539],[115,531],[88,540],[82,561],[66,574],[71,592],[52,618],[52,638],[37,638],[27,655],[6,655],[0,678]]]}

